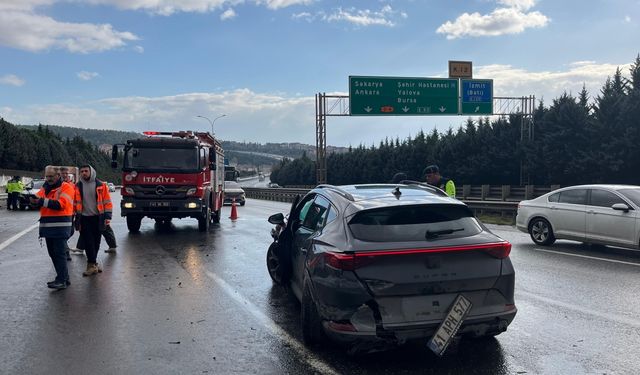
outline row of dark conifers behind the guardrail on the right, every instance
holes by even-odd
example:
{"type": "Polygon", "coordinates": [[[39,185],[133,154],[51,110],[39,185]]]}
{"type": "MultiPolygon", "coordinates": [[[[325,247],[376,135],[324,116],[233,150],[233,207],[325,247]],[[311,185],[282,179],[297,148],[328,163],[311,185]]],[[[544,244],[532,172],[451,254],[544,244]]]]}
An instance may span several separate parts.
{"type": "MultiPolygon", "coordinates": [[[[626,183],[640,185],[640,55],[629,78],[617,69],[590,100],[563,94],[534,115],[535,139],[521,140],[521,117],[467,120],[457,131],[418,133],[377,147],[360,145],[327,158],[328,182],[386,182],[399,171],[423,180],[422,170],[438,164],[457,184],[538,185],[626,183]]],[[[280,185],[314,185],[315,162],[306,155],[273,167],[280,185]]]]}

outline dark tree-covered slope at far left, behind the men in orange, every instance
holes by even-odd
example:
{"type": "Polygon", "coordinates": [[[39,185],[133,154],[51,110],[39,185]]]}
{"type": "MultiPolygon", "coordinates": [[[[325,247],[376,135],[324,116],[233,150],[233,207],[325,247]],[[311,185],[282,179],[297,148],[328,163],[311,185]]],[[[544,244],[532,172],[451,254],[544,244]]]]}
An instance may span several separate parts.
{"type": "Polygon", "coordinates": [[[44,172],[47,165],[92,165],[98,176],[118,182],[111,156],[80,137],[61,138],[47,126],[31,130],[0,119],[0,166],[4,169],[44,172]]]}

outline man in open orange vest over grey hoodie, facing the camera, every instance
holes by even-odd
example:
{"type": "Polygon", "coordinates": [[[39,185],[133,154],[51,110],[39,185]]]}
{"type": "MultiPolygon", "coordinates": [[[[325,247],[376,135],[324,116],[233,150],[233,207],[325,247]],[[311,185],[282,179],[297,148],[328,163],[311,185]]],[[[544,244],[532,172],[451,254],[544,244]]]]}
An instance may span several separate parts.
{"type": "Polygon", "coordinates": [[[80,167],[80,181],[76,185],[76,215],[80,216],[80,236],[87,255],[87,269],[83,276],[102,272],[98,265],[100,237],[105,227],[111,224],[113,204],[107,184],[96,178],[90,165],[80,167]]]}

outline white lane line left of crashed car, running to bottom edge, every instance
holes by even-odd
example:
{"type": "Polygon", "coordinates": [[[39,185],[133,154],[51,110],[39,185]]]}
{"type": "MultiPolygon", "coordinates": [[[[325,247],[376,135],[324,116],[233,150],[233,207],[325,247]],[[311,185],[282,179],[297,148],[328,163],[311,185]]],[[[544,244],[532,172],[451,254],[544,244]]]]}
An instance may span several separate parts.
{"type": "Polygon", "coordinates": [[[248,299],[244,298],[240,293],[231,287],[226,281],[218,277],[213,272],[206,271],[207,276],[211,278],[214,282],[216,282],[222,290],[231,298],[233,298],[238,304],[242,307],[246,308],[247,311],[251,313],[256,319],[258,319],[271,333],[286,342],[291,348],[293,348],[298,354],[304,358],[304,360],[311,365],[314,369],[319,371],[321,374],[339,374],[331,365],[324,362],[322,359],[318,358],[315,354],[311,353],[307,348],[304,347],[302,343],[293,338],[290,334],[287,333],[284,329],[280,328],[276,322],[274,322],[271,318],[266,316],[260,309],[251,303],[248,299]]]}

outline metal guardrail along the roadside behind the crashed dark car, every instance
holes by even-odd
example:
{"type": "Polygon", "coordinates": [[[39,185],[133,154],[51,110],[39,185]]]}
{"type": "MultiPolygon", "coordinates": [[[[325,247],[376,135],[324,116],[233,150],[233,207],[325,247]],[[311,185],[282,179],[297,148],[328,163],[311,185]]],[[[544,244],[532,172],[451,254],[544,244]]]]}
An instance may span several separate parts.
{"type": "MultiPolygon", "coordinates": [[[[309,192],[308,188],[243,188],[247,198],[263,199],[278,202],[293,202],[296,195],[304,195],[309,192]]],[[[537,192],[544,191],[545,189],[538,189],[537,192]]],[[[502,190],[501,190],[502,191],[502,190]]],[[[534,189],[534,191],[536,191],[534,189]]],[[[551,191],[548,189],[546,192],[551,191]]],[[[543,193],[545,194],[545,193],[543,193]]],[[[540,194],[541,195],[541,194],[540,194]]],[[[469,208],[471,208],[476,215],[483,214],[498,214],[502,217],[515,218],[518,211],[519,201],[506,201],[506,200],[482,200],[481,197],[477,199],[461,199],[469,208]]]]}

